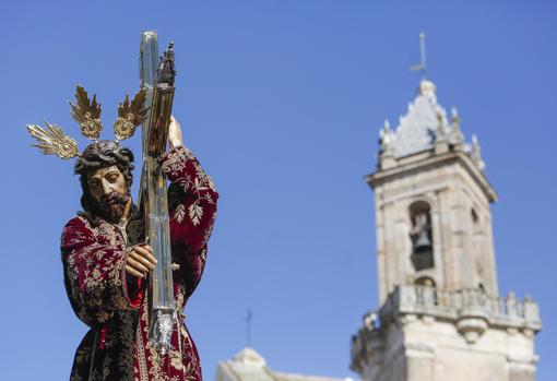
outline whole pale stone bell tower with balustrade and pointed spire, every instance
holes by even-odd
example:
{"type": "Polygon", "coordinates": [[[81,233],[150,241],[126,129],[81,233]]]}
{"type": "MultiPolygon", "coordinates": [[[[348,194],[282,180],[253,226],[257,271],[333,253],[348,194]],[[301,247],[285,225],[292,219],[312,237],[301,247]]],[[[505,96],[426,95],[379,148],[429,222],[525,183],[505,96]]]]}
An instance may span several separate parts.
{"type": "MultiPolygon", "coordinates": [[[[423,59],[425,62],[425,58],[423,59]]],[[[537,305],[499,297],[478,141],[466,142],[436,85],[380,130],[375,192],[379,302],[352,342],[369,381],[533,381],[537,305]]]]}

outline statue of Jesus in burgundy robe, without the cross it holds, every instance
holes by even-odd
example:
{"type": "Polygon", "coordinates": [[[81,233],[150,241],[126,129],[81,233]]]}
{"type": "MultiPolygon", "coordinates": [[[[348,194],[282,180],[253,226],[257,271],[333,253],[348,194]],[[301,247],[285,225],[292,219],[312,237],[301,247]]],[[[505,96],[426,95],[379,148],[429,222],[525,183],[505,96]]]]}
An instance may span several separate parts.
{"type": "Polygon", "coordinates": [[[68,298],[78,318],[90,328],[75,352],[70,380],[201,381],[199,356],[183,323],[183,308],[203,273],[218,194],[195,156],[182,145],[180,124],[171,119],[169,151],[158,158],[170,181],[168,212],[177,315],[170,348],[163,353],[147,340],[146,285],[156,259],[144,238],[143,217],[130,195],[132,152],[118,141],[95,139],[79,154],[75,141],[63,136],[59,127],[28,129],[45,153],[76,157],[74,172],[83,191],[83,211],[68,222],[61,237],[68,298]]]}

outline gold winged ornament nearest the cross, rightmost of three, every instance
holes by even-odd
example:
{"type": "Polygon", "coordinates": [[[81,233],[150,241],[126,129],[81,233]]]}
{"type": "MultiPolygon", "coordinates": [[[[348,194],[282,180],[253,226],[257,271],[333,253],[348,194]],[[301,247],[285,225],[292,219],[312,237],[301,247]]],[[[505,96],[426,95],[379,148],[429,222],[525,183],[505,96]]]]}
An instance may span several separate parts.
{"type": "Polygon", "coordinates": [[[126,94],[126,99],[118,105],[118,118],[114,122],[114,133],[116,139],[125,140],[133,135],[135,128],[147,117],[147,109],[144,108],[147,92],[145,88],[135,93],[130,103],[130,97],[126,94]]]}

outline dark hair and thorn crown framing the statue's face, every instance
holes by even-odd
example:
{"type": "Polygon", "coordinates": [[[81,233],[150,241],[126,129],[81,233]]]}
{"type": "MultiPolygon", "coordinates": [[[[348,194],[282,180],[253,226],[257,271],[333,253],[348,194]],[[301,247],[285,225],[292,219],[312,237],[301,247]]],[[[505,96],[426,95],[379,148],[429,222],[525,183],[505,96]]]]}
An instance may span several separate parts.
{"type": "Polygon", "coordinates": [[[128,192],[133,181],[132,170],[133,153],[117,142],[103,140],[92,143],[83,150],[83,153],[75,160],[73,172],[80,175],[80,183],[83,194],[81,195],[81,206],[86,212],[96,212],[95,202],[88,190],[88,176],[99,168],[106,168],[116,165],[122,172],[126,180],[128,192]]]}

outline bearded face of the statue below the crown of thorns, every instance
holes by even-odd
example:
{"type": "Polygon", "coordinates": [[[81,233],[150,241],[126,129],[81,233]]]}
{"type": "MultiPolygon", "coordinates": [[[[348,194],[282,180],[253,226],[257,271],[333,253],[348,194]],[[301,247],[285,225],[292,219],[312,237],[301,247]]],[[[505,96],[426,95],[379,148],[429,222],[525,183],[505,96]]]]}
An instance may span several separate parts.
{"type": "Polygon", "coordinates": [[[118,223],[131,203],[123,174],[116,165],[99,168],[87,177],[88,192],[102,217],[118,223]]]}

